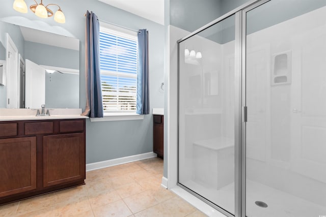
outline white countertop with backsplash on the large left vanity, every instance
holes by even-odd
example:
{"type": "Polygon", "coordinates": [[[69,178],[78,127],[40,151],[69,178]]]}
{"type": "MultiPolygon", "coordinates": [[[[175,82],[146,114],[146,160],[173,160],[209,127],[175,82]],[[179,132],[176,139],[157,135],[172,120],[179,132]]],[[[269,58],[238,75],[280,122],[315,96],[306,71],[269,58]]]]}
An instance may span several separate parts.
{"type": "Polygon", "coordinates": [[[36,116],[36,112],[33,109],[0,109],[0,121],[88,118],[81,115],[82,109],[52,109],[50,116],[36,116]]]}

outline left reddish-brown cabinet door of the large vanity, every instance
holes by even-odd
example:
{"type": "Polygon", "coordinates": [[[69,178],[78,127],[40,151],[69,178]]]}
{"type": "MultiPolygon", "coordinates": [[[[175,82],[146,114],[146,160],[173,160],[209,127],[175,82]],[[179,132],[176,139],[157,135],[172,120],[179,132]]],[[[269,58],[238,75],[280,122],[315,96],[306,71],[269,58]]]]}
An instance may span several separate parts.
{"type": "Polygon", "coordinates": [[[36,189],[36,137],[0,139],[0,197],[36,189]]]}

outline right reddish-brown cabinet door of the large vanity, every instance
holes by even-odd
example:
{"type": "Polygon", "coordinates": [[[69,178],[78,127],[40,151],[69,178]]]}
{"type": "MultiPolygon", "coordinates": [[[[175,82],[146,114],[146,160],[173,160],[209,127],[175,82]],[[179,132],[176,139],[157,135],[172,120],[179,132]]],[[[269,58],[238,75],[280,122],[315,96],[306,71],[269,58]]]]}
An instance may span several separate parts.
{"type": "Polygon", "coordinates": [[[43,186],[85,179],[85,134],[43,137],[43,186]]]}

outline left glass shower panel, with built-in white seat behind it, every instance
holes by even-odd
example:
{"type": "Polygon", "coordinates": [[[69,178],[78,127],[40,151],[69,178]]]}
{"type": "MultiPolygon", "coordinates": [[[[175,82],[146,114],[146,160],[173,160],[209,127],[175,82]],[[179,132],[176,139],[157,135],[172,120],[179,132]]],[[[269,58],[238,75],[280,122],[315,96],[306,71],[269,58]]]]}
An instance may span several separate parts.
{"type": "Polygon", "coordinates": [[[235,212],[235,15],[179,43],[178,184],[235,212]]]}

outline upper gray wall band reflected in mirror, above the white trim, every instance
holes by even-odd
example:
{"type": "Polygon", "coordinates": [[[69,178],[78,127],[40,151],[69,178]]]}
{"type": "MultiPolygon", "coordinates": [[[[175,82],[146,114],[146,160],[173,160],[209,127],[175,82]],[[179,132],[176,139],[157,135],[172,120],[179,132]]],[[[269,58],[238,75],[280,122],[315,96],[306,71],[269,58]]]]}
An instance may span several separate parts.
{"type": "Polygon", "coordinates": [[[38,65],[79,69],[79,51],[25,41],[25,58],[38,65]]]}

